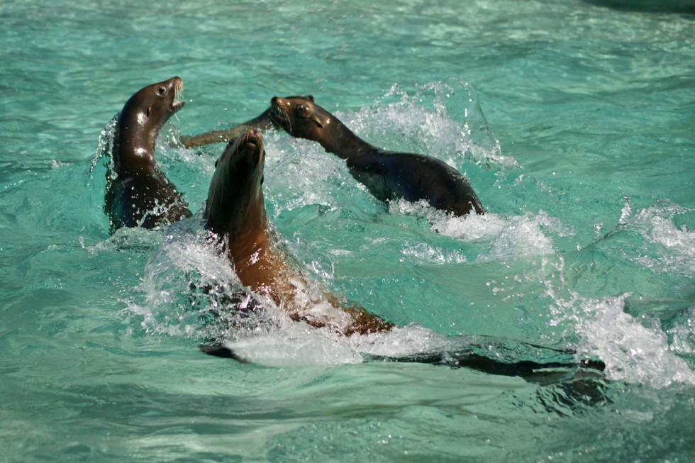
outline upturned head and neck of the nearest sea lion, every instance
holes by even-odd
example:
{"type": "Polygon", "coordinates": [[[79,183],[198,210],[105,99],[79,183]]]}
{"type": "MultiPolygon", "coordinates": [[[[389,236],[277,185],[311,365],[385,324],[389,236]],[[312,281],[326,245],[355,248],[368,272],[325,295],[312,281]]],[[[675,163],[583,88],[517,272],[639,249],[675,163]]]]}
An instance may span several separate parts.
{"type": "Polygon", "coordinates": [[[217,160],[208,189],[205,218],[220,235],[242,235],[265,230],[263,167],[265,147],[259,130],[249,129],[229,140],[217,160]]]}

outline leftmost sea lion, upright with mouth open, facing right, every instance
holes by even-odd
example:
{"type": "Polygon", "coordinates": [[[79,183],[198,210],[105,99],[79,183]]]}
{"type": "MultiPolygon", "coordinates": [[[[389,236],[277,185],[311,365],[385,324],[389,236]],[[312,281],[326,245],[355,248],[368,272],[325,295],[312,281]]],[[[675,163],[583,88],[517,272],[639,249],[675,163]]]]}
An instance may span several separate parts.
{"type": "Polygon", "coordinates": [[[174,101],[182,88],[179,77],[143,87],[118,115],[113,172],[106,172],[104,211],[111,233],[121,227],[155,228],[191,216],[183,196],[155,162],[157,133],[184,107],[184,101],[174,101]]]}

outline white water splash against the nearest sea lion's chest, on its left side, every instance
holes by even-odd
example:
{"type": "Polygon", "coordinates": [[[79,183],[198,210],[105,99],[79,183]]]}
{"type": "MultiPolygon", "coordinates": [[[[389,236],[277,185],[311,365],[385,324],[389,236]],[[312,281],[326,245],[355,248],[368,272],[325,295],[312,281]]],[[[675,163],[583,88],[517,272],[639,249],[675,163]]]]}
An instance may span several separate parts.
{"type": "Polygon", "coordinates": [[[208,242],[200,217],[165,230],[138,289],[142,301],[128,301],[126,316],[147,334],[201,344],[269,328],[272,306],[256,310],[267,301],[243,288],[221,249],[208,242]]]}

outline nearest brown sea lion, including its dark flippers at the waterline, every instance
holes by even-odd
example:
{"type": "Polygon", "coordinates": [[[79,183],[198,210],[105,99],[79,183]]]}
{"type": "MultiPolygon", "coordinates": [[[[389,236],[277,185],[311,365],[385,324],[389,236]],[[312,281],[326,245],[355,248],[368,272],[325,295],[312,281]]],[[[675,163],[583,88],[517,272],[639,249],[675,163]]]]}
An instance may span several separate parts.
{"type": "MultiPolygon", "coordinates": [[[[255,296],[267,296],[292,320],[304,321],[315,328],[327,328],[345,336],[394,329],[396,325],[393,323],[360,306],[340,303],[328,292],[322,292],[318,297],[308,294],[306,279],[279,249],[277,236],[267,219],[262,189],[264,164],[265,148],[260,131],[246,130],[237,140],[229,141],[216,163],[208,190],[205,226],[211,232],[211,239],[221,245],[221,250],[232,262],[241,283],[255,296]]],[[[250,309],[243,310],[262,310],[262,303],[257,303],[255,296],[252,295],[250,309]]],[[[248,301],[247,298],[241,299],[245,300],[244,303],[248,301]]],[[[367,359],[467,367],[491,374],[522,376],[535,382],[565,381],[574,377],[579,369],[601,372],[605,368],[600,360],[575,360],[571,350],[518,342],[514,344],[513,352],[538,352],[547,360],[521,359],[515,362],[501,355],[507,346],[505,342],[478,338],[462,338],[453,350],[421,352],[405,357],[372,355],[367,359]],[[563,368],[571,372],[554,371],[563,368]]],[[[245,362],[223,340],[212,340],[210,344],[201,346],[201,350],[208,355],[245,362]]],[[[509,347],[506,350],[510,350],[509,347]]]]}

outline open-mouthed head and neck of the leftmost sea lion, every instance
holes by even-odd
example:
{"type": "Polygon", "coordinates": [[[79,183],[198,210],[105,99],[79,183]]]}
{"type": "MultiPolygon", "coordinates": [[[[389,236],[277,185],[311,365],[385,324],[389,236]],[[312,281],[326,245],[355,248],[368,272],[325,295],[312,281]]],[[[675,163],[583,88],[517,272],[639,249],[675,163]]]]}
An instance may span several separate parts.
{"type": "Polygon", "coordinates": [[[130,146],[140,157],[152,157],[160,128],[184,107],[184,101],[175,101],[183,87],[184,81],[180,77],[172,77],[143,87],[131,96],[118,116],[121,145],[130,146]]]}

